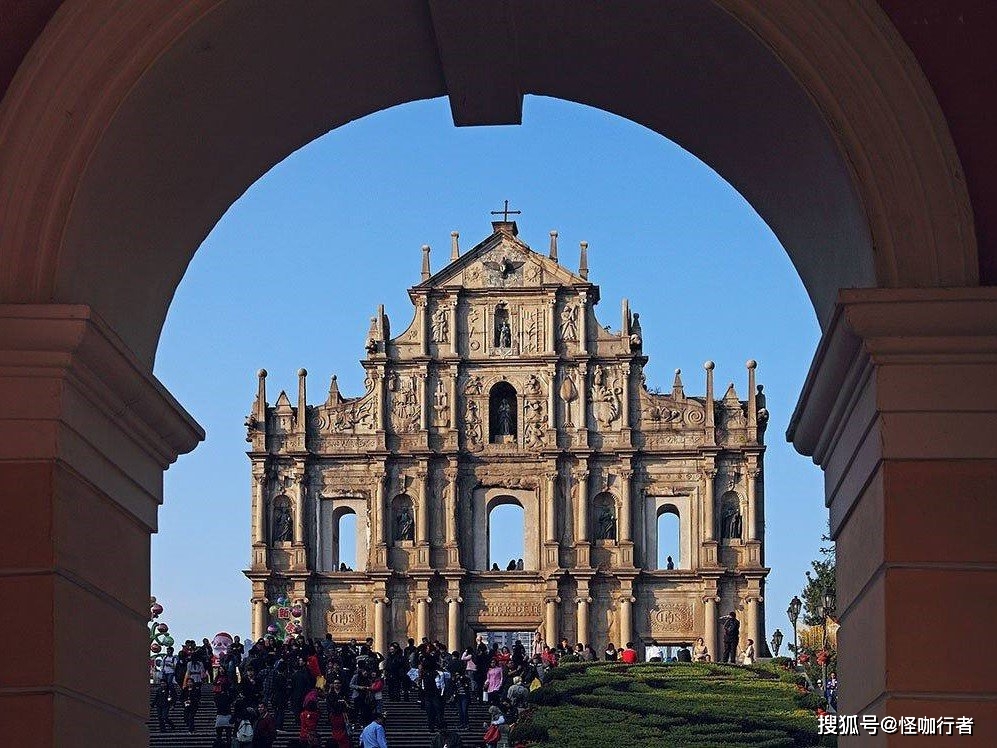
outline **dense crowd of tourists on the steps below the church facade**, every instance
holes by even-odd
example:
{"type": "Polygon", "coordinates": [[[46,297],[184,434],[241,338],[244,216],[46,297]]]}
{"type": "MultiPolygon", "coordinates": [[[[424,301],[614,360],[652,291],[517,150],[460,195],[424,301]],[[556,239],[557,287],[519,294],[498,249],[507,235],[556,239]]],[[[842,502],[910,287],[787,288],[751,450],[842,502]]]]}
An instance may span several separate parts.
{"type": "MultiPolygon", "coordinates": [[[[621,648],[610,643],[600,655],[566,638],[547,644],[539,632],[529,651],[518,640],[509,648],[489,645],[481,637],[462,652],[447,651],[439,641],[416,644],[409,639],[404,646],[393,642],[381,654],[370,638],[343,644],[331,634],[322,640],[267,636],[247,644],[234,637],[220,654],[207,639],[200,645],[189,640],[179,652],[169,647],[152,697],[160,731],[178,729],[174,716],[179,712],[183,728],[193,733],[199,710],[213,708],[215,745],[223,748],[272,746],[288,714],[300,746],[349,748],[351,735],[359,735],[364,748],[386,748],[387,704],[417,701],[428,729],[442,737],[453,728],[471,729],[470,705],[480,700],[489,705],[480,745],[506,748],[511,725],[552,668],[567,662],[633,664],[639,659],[633,642],[621,648]],[[211,685],[210,707],[202,705],[205,683],[211,685]],[[321,703],[326,724],[320,724],[321,703]],[[454,705],[456,724],[451,720],[448,725],[447,704],[454,705]]],[[[700,639],[693,652],[680,649],[678,659],[709,661],[710,656],[700,639]]]]}

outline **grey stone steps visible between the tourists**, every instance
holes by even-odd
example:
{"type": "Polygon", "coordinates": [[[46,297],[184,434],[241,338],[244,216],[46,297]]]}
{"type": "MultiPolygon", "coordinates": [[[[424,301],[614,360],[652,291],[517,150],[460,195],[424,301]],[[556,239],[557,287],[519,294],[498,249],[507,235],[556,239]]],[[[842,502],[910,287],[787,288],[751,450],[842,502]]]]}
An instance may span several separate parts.
{"type": "MultiPolygon", "coordinates": [[[[154,687],[150,686],[150,705],[154,690],[154,687]]],[[[320,701],[319,707],[322,715],[319,720],[319,734],[324,740],[329,736],[329,719],[325,711],[325,702],[320,701]]],[[[426,716],[414,697],[412,701],[407,703],[404,701],[386,701],[385,713],[384,729],[388,736],[390,748],[428,748],[431,745],[433,734],[426,729],[426,716]]],[[[182,705],[177,704],[170,717],[175,729],[170,732],[160,732],[155,709],[149,707],[149,721],[146,724],[149,727],[150,748],[212,748],[215,739],[215,704],[210,685],[203,686],[201,706],[194,720],[193,734],[187,732],[187,727],[184,725],[182,705]]],[[[485,732],[481,725],[487,719],[488,705],[482,703],[480,698],[472,699],[468,717],[470,727],[461,731],[465,748],[468,746],[477,748],[481,745],[481,736],[485,732]]],[[[446,720],[448,727],[456,729],[457,707],[455,704],[447,705],[446,720]]],[[[293,724],[293,715],[288,713],[284,720],[283,730],[274,744],[275,748],[285,748],[290,740],[297,737],[297,734],[297,726],[293,724]]],[[[353,736],[353,745],[360,745],[358,735],[353,736]]]]}

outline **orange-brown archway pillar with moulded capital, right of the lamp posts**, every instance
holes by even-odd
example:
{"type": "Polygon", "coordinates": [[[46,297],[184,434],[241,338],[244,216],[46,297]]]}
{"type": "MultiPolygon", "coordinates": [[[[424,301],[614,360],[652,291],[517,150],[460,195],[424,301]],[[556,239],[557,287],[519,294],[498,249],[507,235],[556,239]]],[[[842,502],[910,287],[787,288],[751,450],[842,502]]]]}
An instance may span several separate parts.
{"type": "Polygon", "coordinates": [[[997,740],[978,655],[997,599],[995,381],[997,288],[841,292],[788,436],[825,473],[842,714],[971,715],[997,740]]]}

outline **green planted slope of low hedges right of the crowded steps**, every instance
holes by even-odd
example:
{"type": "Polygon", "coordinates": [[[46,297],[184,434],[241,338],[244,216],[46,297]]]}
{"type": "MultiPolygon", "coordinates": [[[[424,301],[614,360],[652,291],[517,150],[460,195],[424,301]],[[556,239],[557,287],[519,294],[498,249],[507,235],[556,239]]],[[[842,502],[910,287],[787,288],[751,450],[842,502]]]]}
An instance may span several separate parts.
{"type": "Polygon", "coordinates": [[[558,748],[835,745],[791,673],[707,663],[572,663],[534,691],[515,740],[558,748]]]}

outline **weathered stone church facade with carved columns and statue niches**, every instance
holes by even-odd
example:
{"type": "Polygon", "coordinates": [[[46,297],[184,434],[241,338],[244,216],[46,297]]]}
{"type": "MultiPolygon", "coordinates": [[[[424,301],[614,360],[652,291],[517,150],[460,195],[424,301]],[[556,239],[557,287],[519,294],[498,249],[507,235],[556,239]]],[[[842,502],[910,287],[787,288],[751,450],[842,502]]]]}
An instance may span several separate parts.
{"type": "Polygon", "coordinates": [[[557,234],[534,252],[516,224],[409,289],[393,334],[371,319],[365,393],[267,403],[261,371],[247,419],[252,466],[253,636],[287,598],[308,635],[423,636],[451,650],[477,633],[539,632],[598,649],[704,637],[719,654],[731,610],[764,651],[762,458],[768,413],[747,364],[747,399],[649,389],[639,316],[598,323],[599,287],[560,264],[557,234]],[[489,558],[490,516],[522,508],[522,568],[489,558]],[[356,515],[356,564],[340,526],[356,515]],[[658,526],[678,518],[674,568],[658,526]],[[499,563],[499,569],[494,565],[499,563]]]}

